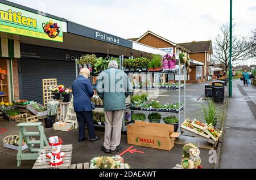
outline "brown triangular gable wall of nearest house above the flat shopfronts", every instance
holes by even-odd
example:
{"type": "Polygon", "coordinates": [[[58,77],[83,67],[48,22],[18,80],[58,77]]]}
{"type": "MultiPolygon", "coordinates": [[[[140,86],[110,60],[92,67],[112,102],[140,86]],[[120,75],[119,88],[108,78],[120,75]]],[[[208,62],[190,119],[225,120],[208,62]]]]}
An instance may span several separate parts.
{"type": "Polygon", "coordinates": [[[175,53],[175,47],[173,45],[151,34],[144,36],[138,42],[141,44],[152,46],[154,48],[174,48],[175,53]]]}

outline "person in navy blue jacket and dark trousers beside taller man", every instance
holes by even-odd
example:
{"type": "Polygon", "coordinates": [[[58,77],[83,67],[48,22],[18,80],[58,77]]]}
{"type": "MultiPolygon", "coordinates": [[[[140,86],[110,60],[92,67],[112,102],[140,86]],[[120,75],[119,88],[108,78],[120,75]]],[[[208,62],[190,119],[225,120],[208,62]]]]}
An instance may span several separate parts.
{"type": "Polygon", "coordinates": [[[85,125],[87,125],[90,142],[100,139],[96,136],[93,126],[92,105],[90,97],[94,95],[92,83],[88,79],[90,71],[88,68],[82,68],[80,75],[73,82],[73,106],[79,123],[79,142],[83,142],[85,138],[85,125]]]}

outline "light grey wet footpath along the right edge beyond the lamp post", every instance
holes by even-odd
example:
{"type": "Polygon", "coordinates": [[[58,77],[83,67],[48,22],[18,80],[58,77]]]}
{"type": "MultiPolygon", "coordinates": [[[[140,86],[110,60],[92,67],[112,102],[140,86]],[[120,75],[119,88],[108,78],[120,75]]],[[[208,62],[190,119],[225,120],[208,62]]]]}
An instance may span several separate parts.
{"type": "Polygon", "coordinates": [[[219,168],[256,168],[256,86],[233,81],[219,168]]]}

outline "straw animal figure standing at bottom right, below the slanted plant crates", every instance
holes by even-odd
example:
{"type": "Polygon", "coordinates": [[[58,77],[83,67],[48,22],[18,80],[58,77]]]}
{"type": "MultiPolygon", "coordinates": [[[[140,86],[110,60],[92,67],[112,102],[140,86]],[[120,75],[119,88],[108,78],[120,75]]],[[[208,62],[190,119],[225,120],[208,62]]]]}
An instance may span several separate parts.
{"type": "Polygon", "coordinates": [[[200,150],[192,143],[185,144],[183,147],[183,156],[181,165],[184,169],[202,169],[200,150]]]}

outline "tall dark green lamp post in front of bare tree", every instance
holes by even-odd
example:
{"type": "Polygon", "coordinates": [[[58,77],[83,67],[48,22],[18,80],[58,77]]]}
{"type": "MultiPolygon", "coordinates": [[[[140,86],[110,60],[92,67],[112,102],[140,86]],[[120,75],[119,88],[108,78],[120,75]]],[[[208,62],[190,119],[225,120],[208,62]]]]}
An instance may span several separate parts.
{"type": "Polygon", "coordinates": [[[230,0],[229,18],[229,97],[232,97],[232,0],[230,0]]]}

